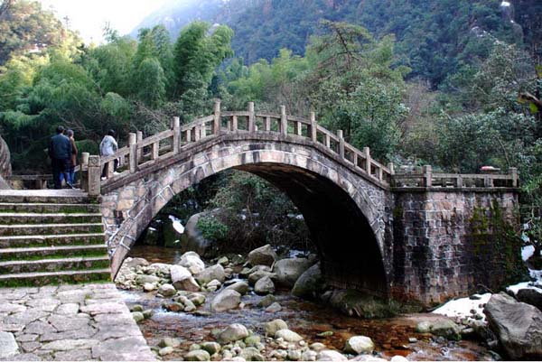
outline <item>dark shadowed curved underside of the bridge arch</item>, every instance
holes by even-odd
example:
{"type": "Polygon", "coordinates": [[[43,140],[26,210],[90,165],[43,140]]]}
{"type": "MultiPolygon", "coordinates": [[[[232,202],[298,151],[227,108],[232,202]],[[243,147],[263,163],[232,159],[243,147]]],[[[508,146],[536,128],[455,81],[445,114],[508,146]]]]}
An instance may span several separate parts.
{"type": "Polygon", "coordinates": [[[300,209],[329,282],[386,294],[377,239],[346,192],[322,176],[284,164],[254,163],[236,169],[271,182],[300,209]]]}

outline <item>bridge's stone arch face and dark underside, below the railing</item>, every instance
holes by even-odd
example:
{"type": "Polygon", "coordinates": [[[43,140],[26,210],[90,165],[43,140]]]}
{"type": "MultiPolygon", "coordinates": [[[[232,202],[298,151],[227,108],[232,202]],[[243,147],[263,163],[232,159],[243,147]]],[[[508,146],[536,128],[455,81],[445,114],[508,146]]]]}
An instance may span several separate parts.
{"type": "Polygon", "coordinates": [[[104,188],[102,212],[114,274],[129,247],[175,194],[234,168],[270,181],[293,200],[318,246],[330,283],[388,295],[387,191],[325,150],[295,139],[228,135],[198,144],[168,162],[104,188]]]}

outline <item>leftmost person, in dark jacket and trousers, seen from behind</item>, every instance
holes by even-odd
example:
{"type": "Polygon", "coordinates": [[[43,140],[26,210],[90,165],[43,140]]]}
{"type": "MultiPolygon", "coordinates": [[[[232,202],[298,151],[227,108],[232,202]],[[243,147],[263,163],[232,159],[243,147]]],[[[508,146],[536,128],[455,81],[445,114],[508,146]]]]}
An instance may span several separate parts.
{"type": "Polygon", "coordinates": [[[54,188],[62,188],[61,173],[64,176],[64,180],[67,181],[66,184],[72,188],[73,185],[68,181],[68,169],[71,163],[71,143],[70,138],[64,135],[64,127],[61,125],[57,127],[57,134],[51,137],[49,157],[51,157],[54,188]]]}

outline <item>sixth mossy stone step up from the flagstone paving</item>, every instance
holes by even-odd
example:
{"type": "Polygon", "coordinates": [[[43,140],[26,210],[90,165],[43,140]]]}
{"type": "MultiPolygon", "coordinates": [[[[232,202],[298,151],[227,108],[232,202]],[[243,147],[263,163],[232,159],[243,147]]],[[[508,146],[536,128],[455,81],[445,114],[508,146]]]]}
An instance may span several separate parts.
{"type": "Polygon", "coordinates": [[[38,214],[33,212],[4,212],[0,213],[2,222],[8,225],[19,224],[82,224],[101,222],[101,214],[38,214]]]}

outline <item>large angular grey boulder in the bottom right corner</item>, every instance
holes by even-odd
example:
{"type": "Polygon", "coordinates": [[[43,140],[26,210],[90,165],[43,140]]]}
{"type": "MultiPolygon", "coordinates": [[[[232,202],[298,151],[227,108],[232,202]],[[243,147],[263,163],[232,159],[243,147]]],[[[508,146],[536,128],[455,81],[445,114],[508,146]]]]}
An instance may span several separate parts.
{"type": "Polygon", "coordinates": [[[501,292],[491,295],[483,312],[511,359],[540,359],[542,311],[501,292]]]}

